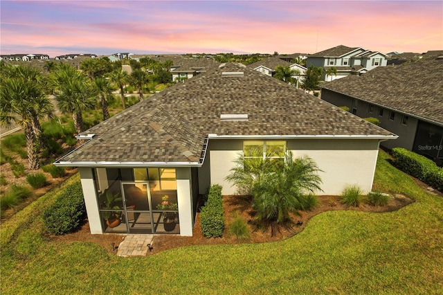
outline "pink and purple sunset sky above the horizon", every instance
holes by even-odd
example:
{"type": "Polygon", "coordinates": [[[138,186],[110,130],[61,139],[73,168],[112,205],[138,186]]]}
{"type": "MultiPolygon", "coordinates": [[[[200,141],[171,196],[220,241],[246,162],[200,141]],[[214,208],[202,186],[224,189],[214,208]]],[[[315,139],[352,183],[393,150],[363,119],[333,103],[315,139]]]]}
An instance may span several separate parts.
{"type": "Polygon", "coordinates": [[[0,54],[443,49],[443,1],[0,1],[0,54]]]}

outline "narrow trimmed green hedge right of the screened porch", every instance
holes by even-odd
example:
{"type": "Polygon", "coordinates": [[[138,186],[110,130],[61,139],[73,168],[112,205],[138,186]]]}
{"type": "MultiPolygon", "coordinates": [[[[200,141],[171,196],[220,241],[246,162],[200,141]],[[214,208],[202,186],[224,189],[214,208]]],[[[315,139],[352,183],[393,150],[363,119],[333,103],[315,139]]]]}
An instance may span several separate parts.
{"type": "Polygon", "coordinates": [[[223,199],[221,198],[221,186],[210,186],[208,201],[201,208],[200,223],[201,232],[206,238],[219,238],[224,231],[223,199]]]}

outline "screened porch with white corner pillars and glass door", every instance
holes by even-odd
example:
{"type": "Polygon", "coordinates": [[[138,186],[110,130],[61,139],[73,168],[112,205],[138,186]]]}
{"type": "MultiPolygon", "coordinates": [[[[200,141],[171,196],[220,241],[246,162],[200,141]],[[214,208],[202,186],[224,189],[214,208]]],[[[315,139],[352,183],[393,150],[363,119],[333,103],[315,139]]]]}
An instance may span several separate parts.
{"type": "Polygon", "coordinates": [[[91,233],[192,235],[193,169],[79,168],[91,233]]]}

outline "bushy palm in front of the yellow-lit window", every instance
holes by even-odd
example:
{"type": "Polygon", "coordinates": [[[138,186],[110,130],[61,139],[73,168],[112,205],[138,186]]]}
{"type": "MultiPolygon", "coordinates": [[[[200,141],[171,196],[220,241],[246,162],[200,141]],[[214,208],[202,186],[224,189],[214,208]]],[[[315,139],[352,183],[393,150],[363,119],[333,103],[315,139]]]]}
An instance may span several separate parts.
{"type": "Polygon", "coordinates": [[[239,193],[253,195],[259,222],[286,221],[289,213],[311,208],[315,202],[310,194],[321,190],[316,163],[309,158],[294,160],[291,152],[285,154],[284,164],[271,159],[271,154],[264,158],[240,155],[235,163],[226,179],[239,188],[239,193]]]}

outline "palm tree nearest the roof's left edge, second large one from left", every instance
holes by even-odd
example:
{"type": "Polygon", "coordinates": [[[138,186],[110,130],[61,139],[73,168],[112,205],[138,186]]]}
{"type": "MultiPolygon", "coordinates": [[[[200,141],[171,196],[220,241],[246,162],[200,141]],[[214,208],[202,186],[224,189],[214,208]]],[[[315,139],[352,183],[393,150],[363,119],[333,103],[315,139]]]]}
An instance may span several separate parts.
{"type": "Polygon", "coordinates": [[[75,132],[83,131],[82,111],[94,107],[94,91],[89,80],[73,66],[60,66],[53,72],[53,82],[57,87],[57,106],[60,111],[72,114],[75,132]]]}

